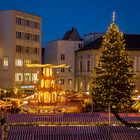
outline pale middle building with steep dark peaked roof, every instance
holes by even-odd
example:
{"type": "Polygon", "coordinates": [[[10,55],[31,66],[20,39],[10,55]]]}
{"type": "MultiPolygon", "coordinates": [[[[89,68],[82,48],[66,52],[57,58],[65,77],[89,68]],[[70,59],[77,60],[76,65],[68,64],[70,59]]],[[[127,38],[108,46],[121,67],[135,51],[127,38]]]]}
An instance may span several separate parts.
{"type": "Polygon", "coordinates": [[[61,88],[65,91],[75,90],[75,51],[82,47],[83,40],[75,28],[66,32],[63,39],[46,44],[46,63],[69,65],[67,69],[57,69],[61,88]]]}

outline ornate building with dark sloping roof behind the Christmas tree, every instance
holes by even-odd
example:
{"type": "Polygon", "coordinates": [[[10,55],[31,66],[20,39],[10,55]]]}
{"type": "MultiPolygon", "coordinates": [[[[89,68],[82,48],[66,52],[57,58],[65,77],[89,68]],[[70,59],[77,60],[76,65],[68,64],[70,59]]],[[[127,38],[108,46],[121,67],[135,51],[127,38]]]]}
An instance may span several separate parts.
{"type": "MultiPolygon", "coordinates": [[[[140,91],[140,35],[124,35],[126,50],[133,59],[134,72],[136,73],[136,87],[140,91]]],[[[102,37],[85,45],[76,51],[76,90],[87,92],[90,89],[92,69],[97,66],[98,49],[102,37]]]]}

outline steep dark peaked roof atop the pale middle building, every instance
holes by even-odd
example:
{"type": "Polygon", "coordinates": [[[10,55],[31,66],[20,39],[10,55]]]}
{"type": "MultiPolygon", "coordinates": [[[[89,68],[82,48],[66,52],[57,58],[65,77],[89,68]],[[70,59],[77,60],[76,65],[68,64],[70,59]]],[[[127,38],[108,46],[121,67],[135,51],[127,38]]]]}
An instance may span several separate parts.
{"type": "Polygon", "coordinates": [[[67,31],[63,37],[63,40],[72,40],[72,41],[79,41],[82,40],[79,32],[76,28],[72,28],[71,30],[67,31]]]}

